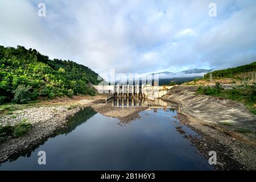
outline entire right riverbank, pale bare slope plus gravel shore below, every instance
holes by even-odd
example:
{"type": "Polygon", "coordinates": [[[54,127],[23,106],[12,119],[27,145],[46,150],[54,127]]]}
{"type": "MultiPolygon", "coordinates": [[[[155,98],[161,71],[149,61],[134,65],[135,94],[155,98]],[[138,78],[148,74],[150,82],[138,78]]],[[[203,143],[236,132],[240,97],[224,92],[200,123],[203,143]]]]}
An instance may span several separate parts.
{"type": "Polygon", "coordinates": [[[187,135],[182,127],[177,131],[190,140],[206,158],[210,157],[209,151],[216,151],[216,169],[255,170],[255,139],[237,132],[241,127],[253,129],[255,116],[245,106],[234,101],[196,95],[194,90],[176,88],[164,96],[165,100],[179,103],[180,113],[177,118],[182,125],[191,127],[201,137],[187,135]],[[221,125],[221,121],[229,121],[230,118],[234,125],[221,125]]]}

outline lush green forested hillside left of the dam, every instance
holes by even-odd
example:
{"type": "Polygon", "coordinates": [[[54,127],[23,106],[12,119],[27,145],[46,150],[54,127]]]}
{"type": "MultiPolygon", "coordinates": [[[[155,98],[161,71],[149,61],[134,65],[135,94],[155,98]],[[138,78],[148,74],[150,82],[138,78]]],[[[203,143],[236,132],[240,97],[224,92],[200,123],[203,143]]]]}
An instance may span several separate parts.
{"type": "Polygon", "coordinates": [[[94,95],[98,74],[73,61],[53,59],[35,49],[0,46],[0,104],[26,103],[38,96],[94,95]]]}

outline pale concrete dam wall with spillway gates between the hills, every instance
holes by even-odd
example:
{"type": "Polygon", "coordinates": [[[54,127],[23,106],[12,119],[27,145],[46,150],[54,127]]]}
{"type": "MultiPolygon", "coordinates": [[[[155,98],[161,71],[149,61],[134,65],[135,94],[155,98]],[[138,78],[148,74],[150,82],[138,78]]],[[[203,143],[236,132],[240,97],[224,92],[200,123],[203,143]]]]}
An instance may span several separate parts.
{"type": "Polygon", "coordinates": [[[151,85],[93,85],[99,93],[113,94],[113,97],[146,97],[155,100],[167,94],[173,86],[151,85]]]}

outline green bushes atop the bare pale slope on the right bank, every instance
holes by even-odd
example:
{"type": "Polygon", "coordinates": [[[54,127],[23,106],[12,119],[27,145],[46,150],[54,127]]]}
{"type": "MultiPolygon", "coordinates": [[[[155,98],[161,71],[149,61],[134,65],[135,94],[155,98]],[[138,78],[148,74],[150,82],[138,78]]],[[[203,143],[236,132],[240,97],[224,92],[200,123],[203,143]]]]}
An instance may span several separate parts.
{"type": "Polygon", "coordinates": [[[217,82],[214,87],[199,86],[197,93],[242,102],[251,112],[256,114],[256,84],[241,85],[224,90],[221,84],[217,82]]]}

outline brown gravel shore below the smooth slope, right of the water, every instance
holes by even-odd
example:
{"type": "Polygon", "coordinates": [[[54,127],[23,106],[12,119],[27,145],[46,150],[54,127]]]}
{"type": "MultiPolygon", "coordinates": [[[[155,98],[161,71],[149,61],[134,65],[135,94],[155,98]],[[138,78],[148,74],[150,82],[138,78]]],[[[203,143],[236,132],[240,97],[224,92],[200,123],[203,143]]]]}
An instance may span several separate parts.
{"type": "MultiPolygon", "coordinates": [[[[210,158],[209,151],[215,151],[217,155],[217,170],[255,170],[256,150],[249,143],[241,142],[233,138],[230,133],[214,124],[205,125],[203,121],[178,114],[177,119],[181,125],[190,127],[196,131],[199,137],[187,135],[182,127],[179,132],[184,135],[197,148],[199,154],[210,158]]],[[[238,137],[238,136],[236,136],[238,137]]]]}

